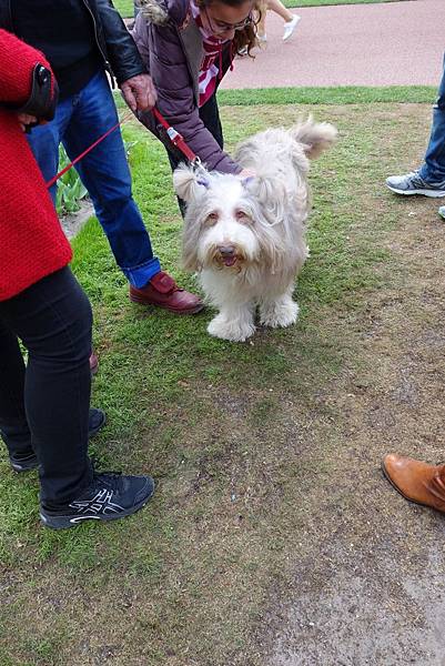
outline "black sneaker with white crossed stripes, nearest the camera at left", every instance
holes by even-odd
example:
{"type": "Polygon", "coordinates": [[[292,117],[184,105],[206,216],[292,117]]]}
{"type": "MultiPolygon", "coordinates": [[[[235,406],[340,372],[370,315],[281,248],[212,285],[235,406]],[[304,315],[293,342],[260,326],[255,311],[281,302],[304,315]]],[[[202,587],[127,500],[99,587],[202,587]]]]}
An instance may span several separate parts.
{"type": "Polygon", "coordinates": [[[58,509],[40,507],[43,525],[53,529],[74,527],[83,521],[117,521],[142,508],[154,493],[151,476],[94,474],[83,493],[58,509]]]}

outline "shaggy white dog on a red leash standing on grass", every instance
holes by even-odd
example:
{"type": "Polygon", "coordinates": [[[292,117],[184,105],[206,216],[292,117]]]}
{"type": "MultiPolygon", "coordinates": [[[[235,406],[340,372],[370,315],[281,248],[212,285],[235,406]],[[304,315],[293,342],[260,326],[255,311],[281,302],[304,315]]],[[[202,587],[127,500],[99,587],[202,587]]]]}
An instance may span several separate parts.
{"type": "Polygon", "coordinates": [[[263,325],[296,321],[292,292],[309,254],[309,159],[335,137],[333,125],[310,118],[241,143],[235,160],[252,178],[186,165],[174,172],[175,191],[186,201],[184,266],[199,273],[206,300],[220,311],[209,324],[211,335],[246,340],[255,331],[256,306],[263,325]]]}

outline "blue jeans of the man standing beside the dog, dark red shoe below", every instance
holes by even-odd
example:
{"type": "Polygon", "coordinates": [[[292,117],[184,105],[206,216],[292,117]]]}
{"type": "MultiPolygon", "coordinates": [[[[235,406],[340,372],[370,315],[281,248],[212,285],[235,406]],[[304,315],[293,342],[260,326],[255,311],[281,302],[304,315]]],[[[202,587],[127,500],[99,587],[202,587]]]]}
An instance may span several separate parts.
{"type": "MultiPolygon", "coordinates": [[[[77,158],[118,122],[113,95],[103,71],[78,93],[59,102],[55,118],[34,128],[29,143],[49,181],[58,172],[59,143],[77,158]]],[[[118,265],[129,282],[144,286],[161,270],[150,236],[131,193],[131,175],[121,132],[114,130],[75,169],[94,204],[118,265]]],[[[55,199],[55,185],[51,189],[55,199]]]]}

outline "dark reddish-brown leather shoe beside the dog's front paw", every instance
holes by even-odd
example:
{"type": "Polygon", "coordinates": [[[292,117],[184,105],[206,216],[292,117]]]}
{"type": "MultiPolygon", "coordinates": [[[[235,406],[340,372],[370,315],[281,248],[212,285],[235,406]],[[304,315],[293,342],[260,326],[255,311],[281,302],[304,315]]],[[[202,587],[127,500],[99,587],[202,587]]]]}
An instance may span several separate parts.
{"type": "Polygon", "coordinates": [[[173,278],[164,271],[156,273],[141,289],[130,285],[130,301],[143,305],[158,305],[175,314],[195,314],[204,307],[199,296],[180,289],[173,278]]]}

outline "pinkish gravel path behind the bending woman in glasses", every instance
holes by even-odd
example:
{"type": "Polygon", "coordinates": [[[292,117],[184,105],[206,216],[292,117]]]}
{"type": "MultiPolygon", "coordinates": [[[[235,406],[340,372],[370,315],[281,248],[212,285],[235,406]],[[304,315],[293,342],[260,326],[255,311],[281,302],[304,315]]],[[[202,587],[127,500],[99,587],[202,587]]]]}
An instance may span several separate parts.
{"type": "Polygon", "coordinates": [[[242,58],[222,88],[293,85],[438,85],[445,50],[445,0],[295,9],[302,17],[283,42],[283,21],[267,13],[267,46],[242,58]]]}

